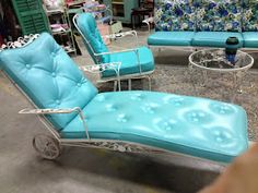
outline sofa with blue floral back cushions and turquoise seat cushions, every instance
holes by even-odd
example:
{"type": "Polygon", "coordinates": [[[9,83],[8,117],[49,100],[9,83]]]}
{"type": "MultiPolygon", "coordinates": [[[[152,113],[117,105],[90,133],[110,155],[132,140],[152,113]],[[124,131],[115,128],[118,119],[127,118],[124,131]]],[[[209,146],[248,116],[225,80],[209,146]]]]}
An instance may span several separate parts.
{"type": "Polygon", "coordinates": [[[149,46],[225,47],[237,37],[239,48],[258,48],[258,1],[159,0],[154,22],[149,46]]]}

